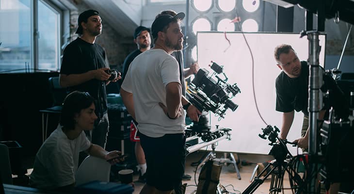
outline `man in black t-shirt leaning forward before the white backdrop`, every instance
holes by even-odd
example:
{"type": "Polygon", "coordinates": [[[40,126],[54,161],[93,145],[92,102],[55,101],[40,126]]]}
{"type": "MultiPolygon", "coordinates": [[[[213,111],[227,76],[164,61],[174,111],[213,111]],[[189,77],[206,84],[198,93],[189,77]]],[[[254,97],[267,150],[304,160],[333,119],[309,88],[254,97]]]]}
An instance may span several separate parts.
{"type": "MultiPolygon", "coordinates": [[[[292,121],[294,110],[304,113],[302,138],[295,140],[297,146],[307,148],[308,146],[308,65],[305,61],[300,62],[296,52],[290,45],[279,45],[274,50],[274,58],[277,66],[283,70],[275,81],[276,107],[275,110],[283,113],[283,122],[280,129],[280,139],[286,139],[292,121]]],[[[323,77],[324,85],[322,92],[332,90],[332,98],[319,113],[319,120],[328,116],[326,110],[333,106],[340,118],[349,115],[349,109],[343,92],[338,88],[337,83],[329,75],[323,77]]]]}

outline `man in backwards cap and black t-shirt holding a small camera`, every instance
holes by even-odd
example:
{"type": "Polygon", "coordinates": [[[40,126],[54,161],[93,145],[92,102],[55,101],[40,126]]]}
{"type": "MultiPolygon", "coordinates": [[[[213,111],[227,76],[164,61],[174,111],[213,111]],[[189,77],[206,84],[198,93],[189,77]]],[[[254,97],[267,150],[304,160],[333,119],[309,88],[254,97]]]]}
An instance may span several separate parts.
{"type": "MultiPolygon", "coordinates": [[[[92,134],[87,134],[92,143],[103,148],[106,146],[109,128],[107,115],[106,85],[110,82],[109,69],[105,63],[106,52],[95,43],[102,32],[101,17],[96,10],[87,10],[78,18],[79,38],[64,49],[62,67],[60,69],[60,85],[67,87],[68,92],[75,90],[88,92],[95,98],[95,127],[92,134]]],[[[120,79],[114,79],[113,82],[120,79]]]]}

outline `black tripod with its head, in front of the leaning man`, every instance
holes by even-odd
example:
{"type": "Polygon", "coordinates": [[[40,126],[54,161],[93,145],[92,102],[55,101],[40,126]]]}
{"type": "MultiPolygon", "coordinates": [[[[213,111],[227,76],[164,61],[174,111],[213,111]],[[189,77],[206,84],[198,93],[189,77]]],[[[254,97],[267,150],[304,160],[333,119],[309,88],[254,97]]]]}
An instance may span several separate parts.
{"type": "MultiPolygon", "coordinates": [[[[269,144],[273,146],[271,151],[269,152],[275,160],[270,162],[261,173],[257,177],[254,178],[254,181],[242,192],[242,194],[252,194],[257,190],[257,188],[264,182],[269,175],[273,174],[270,193],[277,194],[282,190],[282,182],[284,178],[285,171],[288,172],[290,179],[292,179],[296,184],[296,188],[302,188],[304,185],[304,181],[300,176],[295,172],[292,166],[289,165],[288,160],[292,158],[291,153],[289,152],[286,144],[292,144],[286,140],[281,140],[278,137],[278,132],[280,131],[277,127],[268,125],[265,129],[262,129],[263,134],[259,134],[259,137],[262,139],[267,139],[266,136],[268,135],[268,139],[271,141],[269,144]],[[278,143],[277,143],[278,142],[278,143]],[[271,169],[270,169],[271,168],[271,169]],[[270,169],[270,170],[269,170],[270,169]],[[263,178],[260,178],[264,173],[266,173],[263,178]]],[[[301,189],[297,190],[299,192],[301,189]]],[[[301,190],[305,191],[305,190],[301,190]]],[[[301,192],[300,191],[300,192],[301,192]]]]}

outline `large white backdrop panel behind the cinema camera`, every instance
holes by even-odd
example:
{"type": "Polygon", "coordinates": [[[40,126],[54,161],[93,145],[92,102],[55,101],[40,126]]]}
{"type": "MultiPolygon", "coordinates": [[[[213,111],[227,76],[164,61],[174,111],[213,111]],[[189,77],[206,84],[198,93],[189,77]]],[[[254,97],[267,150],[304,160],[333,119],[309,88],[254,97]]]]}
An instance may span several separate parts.
{"type": "MultiPolygon", "coordinates": [[[[274,48],[280,44],[289,44],[297,52],[301,61],[308,58],[308,41],[306,36],[299,38],[295,33],[245,33],[254,59],[255,93],[260,114],[268,125],[281,127],[282,113],[275,111],[275,79],[281,72],[274,60],[274,48]]],[[[239,108],[232,112],[226,111],[225,118],[218,121],[211,113],[211,125],[220,125],[232,129],[231,141],[223,140],[216,147],[217,151],[268,154],[271,146],[269,140],[258,137],[261,128],[266,125],[257,113],[252,88],[252,57],[240,32],[198,32],[197,58],[201,68],[206,68],[210,61],[224,65],[224,72],[229,78],[228,83],[237,85],[241,93],[232,98],[239,108]]],[[[320,63],[324,64],[325,36],[320,36],[320,63]]],[[[221,76],[223,77],[223,76],[221,76]]],[[[295,112],[294,122],[288,140],[300,137],[303,113],[295,112]]],[[[296,147],[288,146],[292,154],[297,153],[296,147]]],[[[299,149],[301,153],[301,149],[299,149]]]]}

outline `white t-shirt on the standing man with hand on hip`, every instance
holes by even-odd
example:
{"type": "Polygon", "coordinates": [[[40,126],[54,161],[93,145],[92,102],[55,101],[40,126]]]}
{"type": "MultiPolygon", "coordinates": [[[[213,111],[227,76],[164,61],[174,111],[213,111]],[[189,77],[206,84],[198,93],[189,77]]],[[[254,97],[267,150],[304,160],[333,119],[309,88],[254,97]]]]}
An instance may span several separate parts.
{"type": "Polygon", "coordinates": [[[176,59],[162,49],[150,49],[138,55],[129,66],[122,88],[133,94],[139,132],[149,137],[183,133],[185,113],[170,119],[161,109],[166,106],[166,85],[179,81],[176,59]]]}

